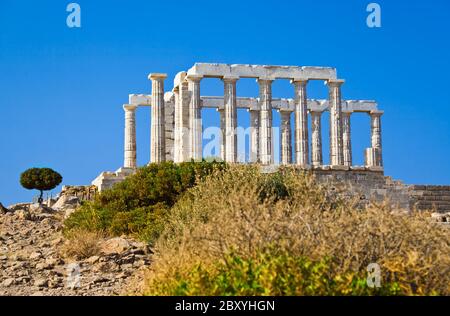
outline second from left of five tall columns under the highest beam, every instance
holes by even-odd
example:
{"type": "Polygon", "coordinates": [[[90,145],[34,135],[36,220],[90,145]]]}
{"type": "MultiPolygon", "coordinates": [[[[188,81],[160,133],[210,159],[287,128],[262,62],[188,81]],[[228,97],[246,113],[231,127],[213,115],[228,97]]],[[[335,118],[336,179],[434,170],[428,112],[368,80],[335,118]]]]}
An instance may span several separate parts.
{"type": "Polygon", "coordinates": [[[225,109],[225,161],[237,162],[237,108],[236,82],[239,78],[224,77],[224,109],[225,109]]]}

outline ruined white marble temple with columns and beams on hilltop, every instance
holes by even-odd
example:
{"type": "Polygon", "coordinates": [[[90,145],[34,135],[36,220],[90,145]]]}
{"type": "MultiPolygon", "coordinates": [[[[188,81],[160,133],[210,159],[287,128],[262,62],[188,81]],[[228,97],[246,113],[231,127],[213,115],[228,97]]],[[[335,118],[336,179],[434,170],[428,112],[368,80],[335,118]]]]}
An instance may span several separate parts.
{"type": "Polygon", "coordinates": [[[370,170],[383,172],[381,147],[381,116],[375,101],[342,100],[344,80],[337,78],[335,68],[227,65],[197,63],[187,72],[178,73],[171,92],[164,91],[166,74],[152,73],[152,94],[131,94],[125,111],[124,166],[116,172],[104,172],[93,184],[102,190],[122,181],[137,167],[136,164],[136,109],[151,106],[150,162],[183,162],[201,160],[202,108],[216,108],[220,113],[222,146],[221,157],[229,163],[237,160],[237,109],[250,114],[250,162],[271,165],[274,163],[272,110],[281,117],[281,163],[295,164],[313,170],[370,170]],[[218,78],[224,85],[224,96],[202,96],[203,78],[218,78]],[[255,78],[259,97],[237,97],[236,84],[240,78],[255,78]],[[293,99],[272,98],[272,83],[289,79],[293,99]],[[328,100],[307,98],[307,85],[311,80],[324,81],[329,89],[328,100]],[[323,165],[321,115],[330,112],[330,165],[323,165]],[[365,166],[352,163],[350,118],[354,112],[371,117],[371,147],[365,151],[365,166]],[[308,113],[311,116],[311,139],[308,131],[308,113]],[[292,130],[291,115],[295,126],[292,130]],[[292,160],[291,140],[294,138],[295,160],[292,160]],[[311,153],[309,142],[311,142],[311,153]]]}

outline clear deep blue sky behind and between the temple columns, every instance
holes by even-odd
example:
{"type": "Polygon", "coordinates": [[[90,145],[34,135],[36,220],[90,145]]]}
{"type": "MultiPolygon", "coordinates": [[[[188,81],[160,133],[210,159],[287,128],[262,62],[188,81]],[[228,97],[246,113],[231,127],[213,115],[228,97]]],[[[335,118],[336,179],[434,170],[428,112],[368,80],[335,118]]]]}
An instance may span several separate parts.
{"type": "MultiPolygon", "coordinates": [[[[66,26],[70,1],[0,2],[0,202],[29,200],[29,167],[51,167],[64,184],[89,184],[123,163],[129,93],[149,93],[150,72],[173,76],[194,62],[332,66],[346,99],[385,110],[386,174],[406,183],[450,184],[450,2],[377,1],[382,27],[366,25],[370,1],[88,1],[82,27],[66,26]]],[[[75,2],[75,1],[74,1],[75,2]]],[[[287,81],[275,97],[291,97],[287,81]]],[[[325,98],[321,83],[311,98],[325,98]]],[[[222,95],[218,80],[203,95],[222,95]]],[[[239,96],[256,96],[254,80],[239,96]]],[[[205,126],[217,113],[205,111],[205,126]]],[[[240,116],[245,125],[245,114],[240,116]]],[[[149,157],[149,110],[138,112],[138,162],[149,157]]],[[[369,119],[353,118],[355,163],[370,144],[369,119]]],[[[275,118],[277,124],[277,118],[275,118]]],[[[326,154],[327,121],[324,120],[326,154]]],[[[326,160],[327,161],[327,160],[326,160]]],[[[58,192],[58,190],[54,190],[58,192]]]]}

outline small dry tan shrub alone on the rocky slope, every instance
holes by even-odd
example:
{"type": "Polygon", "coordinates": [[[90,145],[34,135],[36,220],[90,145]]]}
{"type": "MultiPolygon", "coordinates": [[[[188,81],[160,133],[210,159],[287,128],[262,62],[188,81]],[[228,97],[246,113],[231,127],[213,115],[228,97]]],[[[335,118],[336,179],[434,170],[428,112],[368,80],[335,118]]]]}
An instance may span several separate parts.
{"type": "Polygon", "coordinates": [[[100,254],[101,242],[105,235],[102,232],[86,229],[74,229],[66,234],[66,242],[61,254],[67,258],[82,260],[100,254]]]}

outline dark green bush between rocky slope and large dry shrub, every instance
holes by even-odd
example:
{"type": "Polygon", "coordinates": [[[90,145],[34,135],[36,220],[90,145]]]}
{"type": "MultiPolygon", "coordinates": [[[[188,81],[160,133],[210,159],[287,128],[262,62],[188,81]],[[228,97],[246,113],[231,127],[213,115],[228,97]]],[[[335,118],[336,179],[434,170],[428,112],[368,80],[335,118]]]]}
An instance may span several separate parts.
{"type": "Polygon", "coordinates": [[[65,221],[66,231],[82,228],[112,235],[135,234],[153,241],[180,195],[224,168],[224,163],[206,161],[150,164],[85,202],[65,221]]]}

